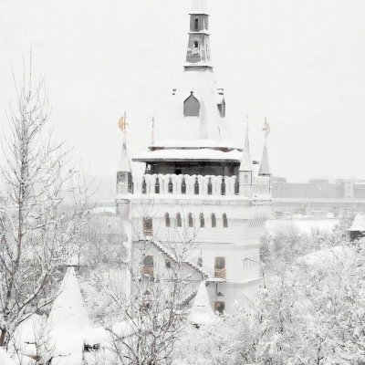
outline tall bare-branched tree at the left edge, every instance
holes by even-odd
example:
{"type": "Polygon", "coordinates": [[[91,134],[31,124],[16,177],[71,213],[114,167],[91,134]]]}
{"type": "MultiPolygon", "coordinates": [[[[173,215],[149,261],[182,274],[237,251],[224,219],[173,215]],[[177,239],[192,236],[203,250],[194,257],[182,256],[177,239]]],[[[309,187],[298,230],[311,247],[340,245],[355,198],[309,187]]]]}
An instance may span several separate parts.
{"type": "Polygon", "coordinates": [[[2,141],[0,347],[52,301],[57,270],[72,255],[88,218],[86,192],[76,184],[78,172],[69,167],[64,144],[53,136],[45,85],[34,82],[31,61],[15,84],[2,141]]]}

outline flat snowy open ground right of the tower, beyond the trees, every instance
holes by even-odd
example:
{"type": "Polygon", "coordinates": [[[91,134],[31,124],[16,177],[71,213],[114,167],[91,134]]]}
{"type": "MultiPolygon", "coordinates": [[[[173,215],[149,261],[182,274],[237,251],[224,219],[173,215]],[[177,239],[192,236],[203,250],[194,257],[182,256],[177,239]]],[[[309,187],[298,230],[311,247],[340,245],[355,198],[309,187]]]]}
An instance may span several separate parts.
{"type": "Polygon", "coordinates": [[[266,222],[268,235],[288,234],[296,232],[301,235],[316,234],[329,235],[339,219],[272,219],[266,222]]]}

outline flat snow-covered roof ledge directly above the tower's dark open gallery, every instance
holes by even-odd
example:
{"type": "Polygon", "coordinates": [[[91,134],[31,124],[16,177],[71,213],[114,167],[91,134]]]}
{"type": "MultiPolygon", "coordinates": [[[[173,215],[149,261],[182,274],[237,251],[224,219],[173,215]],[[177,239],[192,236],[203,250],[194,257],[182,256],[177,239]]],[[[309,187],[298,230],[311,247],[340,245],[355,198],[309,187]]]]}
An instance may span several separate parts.
{"type": "Polygon", "coordinates": [[[240,151],[217,151],[211,149],[200,150],[155,150],[146,151],[135,157],[135,162],[157,162],[157,161],[220,161],[240,162],[242,154],[240,151]]]}

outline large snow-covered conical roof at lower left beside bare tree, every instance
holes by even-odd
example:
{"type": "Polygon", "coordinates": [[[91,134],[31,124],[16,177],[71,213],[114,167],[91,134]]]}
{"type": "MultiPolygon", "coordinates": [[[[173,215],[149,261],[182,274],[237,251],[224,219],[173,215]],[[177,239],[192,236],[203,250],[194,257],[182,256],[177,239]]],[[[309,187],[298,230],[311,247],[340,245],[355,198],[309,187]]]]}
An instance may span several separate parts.
{"type": "Polygon", "coordinates": [[[52,365],[81,365],[84,342],[91,332],[75,270],[68,267],[47,320],[52,365]]]}

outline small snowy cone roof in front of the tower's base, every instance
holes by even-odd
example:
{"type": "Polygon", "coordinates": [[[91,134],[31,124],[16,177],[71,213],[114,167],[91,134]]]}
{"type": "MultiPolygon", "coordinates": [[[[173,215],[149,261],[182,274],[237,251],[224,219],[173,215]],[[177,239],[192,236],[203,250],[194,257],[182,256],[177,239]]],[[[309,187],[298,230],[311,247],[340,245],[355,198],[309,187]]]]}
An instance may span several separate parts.
{"type": "Polygon", "coordinates": [[[212,325],[216,321],[204,281],[202,281],[199,285],[198,293],[196,294],[193,302],[193,308],[189,315],[189,320],[194,325],[199,326],[212,325]]]}

